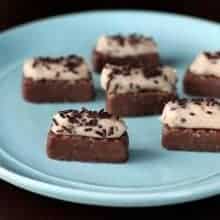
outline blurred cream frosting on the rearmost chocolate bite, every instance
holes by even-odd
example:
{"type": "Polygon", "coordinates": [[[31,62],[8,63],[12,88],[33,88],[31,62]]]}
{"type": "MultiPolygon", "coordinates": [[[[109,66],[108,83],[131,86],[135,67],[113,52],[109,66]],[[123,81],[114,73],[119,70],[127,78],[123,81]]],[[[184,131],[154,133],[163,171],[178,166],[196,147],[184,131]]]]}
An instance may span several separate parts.
{"type": "Polygon", "coordinates": [[[117,40],[111,37],[102,36],[98,39],[96,51],[115,57],[158,53],[157,46],[151,39],[143,38],[136,44],[131,44],[126,37],[124,37],[124,39],[124,44],[121,45],[117,40]]]}

